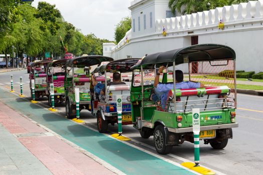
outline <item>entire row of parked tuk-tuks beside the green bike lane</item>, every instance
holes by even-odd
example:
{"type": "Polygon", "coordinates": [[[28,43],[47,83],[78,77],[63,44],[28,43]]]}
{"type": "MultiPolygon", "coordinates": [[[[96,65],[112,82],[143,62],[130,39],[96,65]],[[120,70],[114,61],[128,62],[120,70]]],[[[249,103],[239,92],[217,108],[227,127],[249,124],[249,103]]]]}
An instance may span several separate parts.
{"type": "Polygon", "coordinates": [[[224,148],[232,138],[235,122],[236,83],[219,77],[218,71],[235,72],[235,52],[228,46],[198,44],[181,49],[148,54],[139,58],[113,60],[111,57],[88,55],[60,60],[42,60],[30,66],[31,97],[47,96],[52,105],[51,88],[54,84],[54,101],[65,101],[66,116],[76,117],[76,100],[79,109],[87,109],[97,117],[99,132],[107,132],[108,124],[118,121],[117,96],[122,96],[122,124],[132,124],[143,138],[154,136],[158,153],[169,153],[173,145],[193,142],[192,108],[200,108],[200,139],[213,148],[224,148]],[[160,99],[153,101],[154,78],[158,67],[166,69],[160,83],[173,83],[165,107],[160,99]],[[94,69],[94,66],[96,68],[94,69]],[[205,88],[176,89],[175,69],[188,67],[189,80],[198,80],[205,88]],[[219,68],[218,68],[219,67],[219,68]],[[93,71],[92,71],[93,70],[93,71]],[[110,85],[114,72],[119,72],[125,84],[110,85]],[[105,93],[94,91],[91,76],[105,84],[105,93]],[[216,78],[214,78],[216,77],[216,78]],[[34,87],[32,86],[34,85],[34,87]],[[78,88],[79,94],[75,89],[78,88]]]}

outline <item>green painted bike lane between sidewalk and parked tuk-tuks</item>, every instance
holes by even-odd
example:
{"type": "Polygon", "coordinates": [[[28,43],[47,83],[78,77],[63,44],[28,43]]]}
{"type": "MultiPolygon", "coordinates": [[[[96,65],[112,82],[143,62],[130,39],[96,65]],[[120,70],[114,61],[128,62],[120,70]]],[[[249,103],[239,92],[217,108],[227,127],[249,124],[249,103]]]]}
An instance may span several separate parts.
{"type": "Polygon", "coordinates": [[[0,89],[0,99],[11,108],[48,127],[126,174],[194,174],[3,89],[0,89]]]}

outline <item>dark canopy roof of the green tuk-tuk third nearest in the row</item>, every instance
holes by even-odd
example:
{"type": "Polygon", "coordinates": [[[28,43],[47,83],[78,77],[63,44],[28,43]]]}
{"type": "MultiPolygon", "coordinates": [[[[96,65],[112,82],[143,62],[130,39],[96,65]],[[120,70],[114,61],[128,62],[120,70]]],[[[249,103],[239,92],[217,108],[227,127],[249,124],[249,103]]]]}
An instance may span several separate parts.
{"type": "Polygon", "coordinates": [[[66,65],[77,65],[78,67],[85,67],[100,64],[103,61],[113,61],[112,57],[102,55],[88,55],[80,56],[70,59],[66,65]]]}

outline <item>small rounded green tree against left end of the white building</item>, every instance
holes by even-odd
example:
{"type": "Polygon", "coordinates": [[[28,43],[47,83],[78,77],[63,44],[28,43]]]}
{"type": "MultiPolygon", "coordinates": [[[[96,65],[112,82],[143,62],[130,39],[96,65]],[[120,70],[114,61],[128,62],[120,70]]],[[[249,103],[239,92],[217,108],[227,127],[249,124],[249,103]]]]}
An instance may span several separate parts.
{"type": "Polygon", "coordinates": [[[118,43],[126,34],[127,31],[131,29],[131,18],[124,17],[115,28],[114,36],[115,40],[118,43]]]}

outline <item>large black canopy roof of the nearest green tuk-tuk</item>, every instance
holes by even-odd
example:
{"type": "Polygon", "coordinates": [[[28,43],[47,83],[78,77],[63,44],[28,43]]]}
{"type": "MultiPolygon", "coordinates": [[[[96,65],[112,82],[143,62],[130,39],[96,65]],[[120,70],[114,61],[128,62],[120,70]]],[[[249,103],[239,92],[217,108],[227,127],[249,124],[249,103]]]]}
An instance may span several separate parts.
{"type": "Polygon", "coordinates": [[[220,44],[196,44],[174,50],[148,54],[141,61],[132,67],[154,68],[160,65],[171,66],[173,61],[175,64],[185,63],[187,61],[211,61],[220,59],[235,59],[235,52],[232,48],[220,44]]]}

